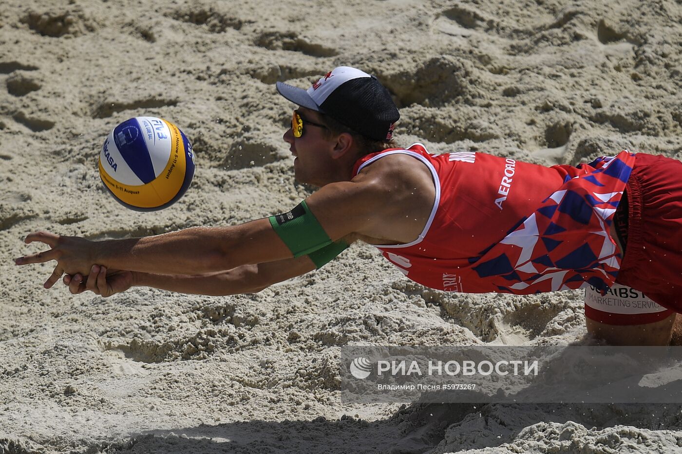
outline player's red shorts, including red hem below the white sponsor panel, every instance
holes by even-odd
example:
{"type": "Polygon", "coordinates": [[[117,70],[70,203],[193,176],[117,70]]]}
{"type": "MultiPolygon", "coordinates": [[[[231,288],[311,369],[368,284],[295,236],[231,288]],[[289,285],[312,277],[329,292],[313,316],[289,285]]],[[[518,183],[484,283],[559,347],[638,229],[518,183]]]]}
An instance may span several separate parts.
{"type": "Polygon", "coordinates": [[[645,324],[682,313],[682,162],[637,153],[625,194],[627,243],[616,282],[666,310],[610,314],[586,305],[585,315],[609,324],[645,324]]]}

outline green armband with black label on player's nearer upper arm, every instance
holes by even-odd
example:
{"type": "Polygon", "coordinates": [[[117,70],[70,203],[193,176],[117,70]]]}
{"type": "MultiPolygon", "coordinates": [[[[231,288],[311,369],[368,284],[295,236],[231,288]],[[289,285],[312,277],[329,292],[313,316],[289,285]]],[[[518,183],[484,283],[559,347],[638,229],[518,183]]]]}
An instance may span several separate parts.
{"type": "Polygon", "coordinates": [[[331,238],[308,209],[306,200],[288,211],[270,216],[270,225],[294,257],[304,256],[331,244],[331,238]]]}

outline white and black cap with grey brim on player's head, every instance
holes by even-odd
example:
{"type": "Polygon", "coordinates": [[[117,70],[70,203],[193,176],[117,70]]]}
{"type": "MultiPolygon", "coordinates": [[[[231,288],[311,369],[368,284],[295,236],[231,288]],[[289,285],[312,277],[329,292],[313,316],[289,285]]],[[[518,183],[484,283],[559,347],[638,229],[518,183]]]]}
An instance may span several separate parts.
{"type": "Polygon", "coordinates": [[[400,118],[388,90],[376,77],[355,67],[335,67],[307,90],[277,82],[277,91],[374,140],[390,139],[400,118]]]}

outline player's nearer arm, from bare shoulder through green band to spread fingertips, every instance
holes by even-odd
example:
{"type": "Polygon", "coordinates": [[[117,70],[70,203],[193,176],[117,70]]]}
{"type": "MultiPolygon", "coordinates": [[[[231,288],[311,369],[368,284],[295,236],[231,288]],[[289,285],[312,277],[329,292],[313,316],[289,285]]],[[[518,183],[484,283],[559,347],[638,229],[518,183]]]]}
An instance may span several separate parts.
{"type": "Polygon", "coordinates": [[[288,213],[238,226],[192,227],[153,237],[107,241],[35,232],[25,243],[40,242],[50,249],[17,258],[15,263],[57,260],[45,288],[51,288],[64,273],[89,274],[95,264],[168,275],[231,270],[310,254],[354,232],[394,239],[382,233],[385,226],[396,216],[409,218],[400,212],[404,204],[396,203],[394,194],[390,186],[374,180],[339,182],[310,196],[310,207],[301,202],[288,213]]]}

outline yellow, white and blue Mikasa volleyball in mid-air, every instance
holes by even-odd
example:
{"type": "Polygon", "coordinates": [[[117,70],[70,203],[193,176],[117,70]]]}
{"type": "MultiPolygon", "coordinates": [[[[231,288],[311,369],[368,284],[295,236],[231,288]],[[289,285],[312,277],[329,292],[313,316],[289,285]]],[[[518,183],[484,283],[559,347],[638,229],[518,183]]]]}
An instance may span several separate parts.
{"type": "Polygon", "coordinates": [[[156,117],[123,121],[104,140],[100,178],[124,207],[155,211],[173,205],[194,177],[192,144],[179,128],[156,117]]]}

